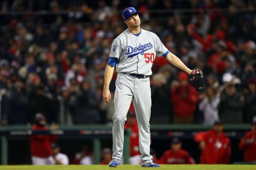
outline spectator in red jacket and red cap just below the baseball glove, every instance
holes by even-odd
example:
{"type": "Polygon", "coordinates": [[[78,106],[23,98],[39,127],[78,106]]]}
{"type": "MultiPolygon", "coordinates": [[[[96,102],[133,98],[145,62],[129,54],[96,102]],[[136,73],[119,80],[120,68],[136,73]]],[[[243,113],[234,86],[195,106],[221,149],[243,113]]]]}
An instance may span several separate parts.
{"type": "Polygon", "coordinates": [[[173,123],[193,123],[198,92],[189,84],[188,75],[180,72],[178,75],[179,85],[173,87],[171,103],[173,106],[173,123]]]}

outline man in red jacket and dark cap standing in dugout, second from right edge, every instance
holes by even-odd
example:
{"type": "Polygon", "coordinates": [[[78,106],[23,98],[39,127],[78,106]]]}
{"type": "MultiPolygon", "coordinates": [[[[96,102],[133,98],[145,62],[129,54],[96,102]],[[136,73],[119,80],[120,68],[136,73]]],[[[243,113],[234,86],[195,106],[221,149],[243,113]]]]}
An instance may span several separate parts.
{"type": "Polygon", "coordinates": [[[199,132],[194,137],[201,149],[201,164],[228,164],[231,154],[230,142],[223,132],[222,123],[214,122],[213,130],[199,132]]]}

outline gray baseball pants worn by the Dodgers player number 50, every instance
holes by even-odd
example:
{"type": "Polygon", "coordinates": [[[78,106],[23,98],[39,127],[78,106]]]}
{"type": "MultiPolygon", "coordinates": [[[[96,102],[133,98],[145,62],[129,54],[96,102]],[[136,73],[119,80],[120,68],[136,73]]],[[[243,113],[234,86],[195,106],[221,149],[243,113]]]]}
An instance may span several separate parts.
{"type": "Polygon", "coordinates": [[[151,90],[149,78],[138,79],[131,75],[118,73],[114,96],[115,113],[113,115],[113,156],[121,159],[124,146],[124,123],[131,101],[135,108],[138,129],[141,163],[152,161],[150,153],[150,114],[151,90]]]}

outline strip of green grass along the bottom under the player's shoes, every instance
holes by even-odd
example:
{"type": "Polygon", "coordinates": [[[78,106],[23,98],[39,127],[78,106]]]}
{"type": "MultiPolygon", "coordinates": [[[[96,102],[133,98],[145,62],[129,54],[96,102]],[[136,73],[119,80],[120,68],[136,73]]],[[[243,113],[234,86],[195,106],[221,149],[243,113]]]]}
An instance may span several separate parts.
{"type": "MultiPolygon", "coordinates": [[[[107,165],[7,165],[0,166],[3,170],[47,170],[47,169],[61,169],[61,170],[105,170],[105,169],[120,169],[120,170],[134,170],[145,169],[139,165],[119,165],[117,168],[108,167],[107,165]]],[[[146,168],[147,169],[147,168],[146,168]]],[[[149,168],[151,169],[151,168],[149,168]]],[[[154,168],[155,169],[155,168],[154,168]]],[[[256,165],[161,165],[159,170],[255,170],[256,165]]]]}

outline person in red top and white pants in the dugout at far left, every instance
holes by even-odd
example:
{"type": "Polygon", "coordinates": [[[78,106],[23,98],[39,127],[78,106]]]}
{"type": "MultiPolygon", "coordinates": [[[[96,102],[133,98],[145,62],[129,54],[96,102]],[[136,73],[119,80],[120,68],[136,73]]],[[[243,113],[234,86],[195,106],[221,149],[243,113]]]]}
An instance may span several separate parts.
{"type": "MultiPolygon", "coordinates": [[[[52,126],[52,130],[57,129],[57,126],[52,126]]],[[[45,116],[41,113],[35,115],[35,124],[32,130],[49,130],[46,126],[45,116]]],[[[56,135],[31,135],[30,136],[30,150],[33,165],[53,165],[55,164],[52,157],[51,142],[57,140],[56,135]]]]}

